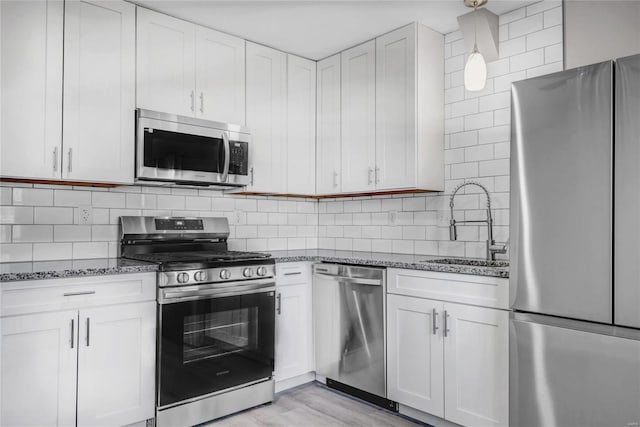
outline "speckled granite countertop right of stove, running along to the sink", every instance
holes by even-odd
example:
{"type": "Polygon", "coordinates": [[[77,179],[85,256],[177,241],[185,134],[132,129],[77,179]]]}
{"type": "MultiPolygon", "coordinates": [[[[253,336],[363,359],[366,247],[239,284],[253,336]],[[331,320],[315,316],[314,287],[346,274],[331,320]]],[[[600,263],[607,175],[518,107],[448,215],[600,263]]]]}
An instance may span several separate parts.
{"type": "MultiPolygon", "coordinates": [[[[509,277],[509,267],[486,267],[478,265],[440,264],[432,262],[443,259],[429,255],[406,255],[383,252],[335,251],[307,249],[294,251],[269,251],[276,262],[328,261],[342,264],[361,264],[379,267],[406,268],[412,270],[438,271],[442,273],[472,274],[475,276],[509,277]]],[[[449,258],[449,257],[447,257],[449,258]]],[[[478,260],[482,261],[482,260],[478,260]]]]}

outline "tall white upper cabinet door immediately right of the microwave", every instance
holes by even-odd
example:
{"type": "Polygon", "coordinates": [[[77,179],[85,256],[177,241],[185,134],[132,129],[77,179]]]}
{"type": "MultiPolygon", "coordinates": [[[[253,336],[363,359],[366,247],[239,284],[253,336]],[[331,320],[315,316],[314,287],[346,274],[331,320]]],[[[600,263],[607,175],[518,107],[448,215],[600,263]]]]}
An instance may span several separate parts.
{"type": "Polygon", "coordinates": [[[287,55],[247,42],[249,191],[282,193],[286,183],[287,55]]]}

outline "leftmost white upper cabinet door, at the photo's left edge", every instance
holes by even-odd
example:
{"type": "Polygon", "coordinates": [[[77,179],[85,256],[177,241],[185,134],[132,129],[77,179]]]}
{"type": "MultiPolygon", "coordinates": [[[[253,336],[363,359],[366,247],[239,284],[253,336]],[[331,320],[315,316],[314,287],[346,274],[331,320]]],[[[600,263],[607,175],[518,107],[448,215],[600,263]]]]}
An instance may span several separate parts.
{"type": "Polygon", "coordinates": [[[62,1],[1,1],[0,173],[60,179],[62,1]]]}

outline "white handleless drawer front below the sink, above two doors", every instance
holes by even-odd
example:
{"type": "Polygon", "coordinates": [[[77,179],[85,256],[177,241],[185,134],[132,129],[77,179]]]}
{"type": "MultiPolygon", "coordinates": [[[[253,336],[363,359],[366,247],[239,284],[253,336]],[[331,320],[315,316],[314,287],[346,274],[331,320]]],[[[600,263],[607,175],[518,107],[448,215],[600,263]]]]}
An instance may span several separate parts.
{"type": "Polygon", "coordinates": [[[509,308],[509,280],[470,274],[387,269],[387,292],[492,308],[509,308]]]}

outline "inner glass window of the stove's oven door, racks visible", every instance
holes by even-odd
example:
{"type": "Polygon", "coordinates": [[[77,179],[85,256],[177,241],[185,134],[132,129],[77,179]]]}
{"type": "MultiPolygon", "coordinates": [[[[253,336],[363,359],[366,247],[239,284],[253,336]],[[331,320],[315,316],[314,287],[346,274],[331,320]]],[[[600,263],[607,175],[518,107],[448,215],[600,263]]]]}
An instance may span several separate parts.
{"type": "Polygon", "coordinates": [[[258,348],[258,309],[195,314],[184,319],[183,363],[258,348]]]}

